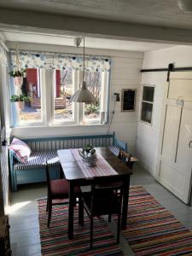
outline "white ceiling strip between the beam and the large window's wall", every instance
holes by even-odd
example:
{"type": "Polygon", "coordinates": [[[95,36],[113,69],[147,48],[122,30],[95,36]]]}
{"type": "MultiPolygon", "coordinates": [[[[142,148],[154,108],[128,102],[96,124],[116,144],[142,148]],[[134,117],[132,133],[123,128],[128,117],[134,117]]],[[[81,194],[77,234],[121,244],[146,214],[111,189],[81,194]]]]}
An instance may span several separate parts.
{"type": "MultiPolygon", "coordinates": [[[[6,41],[11,42],[75,46],[74,38],[69,36],[8,30],[2,30],[1,32],[3,34],[3,38],[6,41]]],[[[82,43],[80,46],[82,46],[82,43]]],[[[114,40],[107,38],[85,38],[85,47],[96,49],[116,49],[146,52],[155,49],[172,47],[172,44],[155,44],[147,42],[114,40]]]]}

